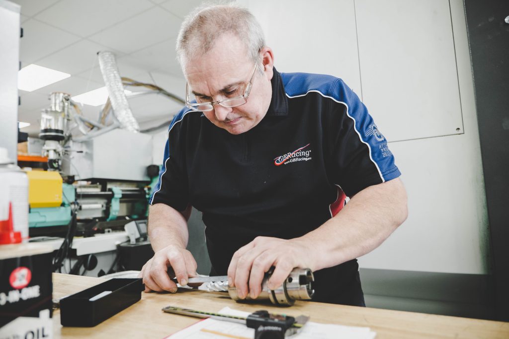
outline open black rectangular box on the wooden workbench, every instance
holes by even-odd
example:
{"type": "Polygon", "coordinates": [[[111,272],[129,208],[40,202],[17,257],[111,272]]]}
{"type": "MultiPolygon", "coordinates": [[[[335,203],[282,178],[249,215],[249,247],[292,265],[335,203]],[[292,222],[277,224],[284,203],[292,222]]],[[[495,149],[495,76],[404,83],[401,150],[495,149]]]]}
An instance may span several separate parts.
{"type": "Polygon", "coordinates": [[[143,290],[142,279],[110,279],[60,300],[60,323],[62,326],[95,326],[141,299],[143,290]],[[111,293],[97,298],[106,291],[111,293]]]}

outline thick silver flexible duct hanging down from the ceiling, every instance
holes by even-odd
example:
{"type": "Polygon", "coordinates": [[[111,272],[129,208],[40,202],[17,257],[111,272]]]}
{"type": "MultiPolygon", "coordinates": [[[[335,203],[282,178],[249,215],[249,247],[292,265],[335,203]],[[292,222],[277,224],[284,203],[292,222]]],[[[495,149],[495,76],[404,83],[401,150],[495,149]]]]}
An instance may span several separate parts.
{"type": "Polygon", "coordinates": [[[115,54],[108,51],[97,53],[99,57],[99,67],[101,68],[102,78],[108,89],[109,100],[113,107],[113,114],[120,122],[120,126],[131,132],[139,132],[139,125],[132,115],[127,97],[124,93],[124,86],[120,78],[119,69],[115,54]]]}

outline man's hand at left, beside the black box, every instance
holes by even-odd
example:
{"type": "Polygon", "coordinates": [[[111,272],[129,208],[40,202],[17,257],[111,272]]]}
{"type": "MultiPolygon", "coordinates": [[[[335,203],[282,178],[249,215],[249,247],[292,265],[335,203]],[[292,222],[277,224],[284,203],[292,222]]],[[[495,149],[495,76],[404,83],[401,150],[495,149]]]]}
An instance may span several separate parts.
{"type": "Polygon", "coordinates": [[[187,285],[190,277],[196,276],[196,260],[191,252],[176,245],[168,245],[157,251],[152,259],[143,265],[138,277],[143,278],[145,292],[177,292],[177,284],[170,275],[176,276],[180,285],[187,285]]]}

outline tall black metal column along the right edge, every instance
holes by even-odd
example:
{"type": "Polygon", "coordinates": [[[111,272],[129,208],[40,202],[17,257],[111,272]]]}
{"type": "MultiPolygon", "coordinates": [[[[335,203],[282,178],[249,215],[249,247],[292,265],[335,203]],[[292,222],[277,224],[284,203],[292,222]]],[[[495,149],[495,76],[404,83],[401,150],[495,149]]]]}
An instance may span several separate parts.
{"type": "Polygon", "coordinates": [[[509,1],[464,0],[491,236],[496,320],[509,321],[509,1]]]}

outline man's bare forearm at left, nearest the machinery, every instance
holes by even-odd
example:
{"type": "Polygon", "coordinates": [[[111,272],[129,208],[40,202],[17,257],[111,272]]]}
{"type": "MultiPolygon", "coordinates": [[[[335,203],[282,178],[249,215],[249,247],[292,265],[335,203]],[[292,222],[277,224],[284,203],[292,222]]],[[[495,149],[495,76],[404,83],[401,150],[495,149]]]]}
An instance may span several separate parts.
{"type": "Polygon", "coordinates": [[[190,212],[191,207],[183,212],[165,204],[155,204],[149,207],[148,232],[154,252],[168,245],[186,248],[189,240],[187,220],[190,212]]]}

